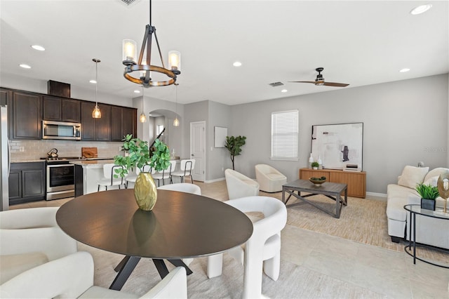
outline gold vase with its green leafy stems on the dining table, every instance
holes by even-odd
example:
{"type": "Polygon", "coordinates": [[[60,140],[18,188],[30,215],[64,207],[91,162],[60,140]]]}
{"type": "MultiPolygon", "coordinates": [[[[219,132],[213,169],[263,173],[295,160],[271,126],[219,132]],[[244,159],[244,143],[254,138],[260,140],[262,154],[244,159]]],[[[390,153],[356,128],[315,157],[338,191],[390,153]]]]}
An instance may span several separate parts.
{"type": "Polygon", "coordinates": [[[148,142],[140,138],[133,138],[133,135],[126,135],[123,139],[123,150],[128,151],[128,156],[114,157],[116,165],[123,168],[116,169],[115,178],[125,177],[129,171],[139,168],[140,173],[135,180],[134,197],[139,208],[144,211],[151,211],[157,200],[156,184],[152,174],[144,172],[144,166],[149,165],[156,171],[162,171],[170,165],[170,150],[168,146],[156,139],[154,142],[154,152],[149,154],[148,142]]]}

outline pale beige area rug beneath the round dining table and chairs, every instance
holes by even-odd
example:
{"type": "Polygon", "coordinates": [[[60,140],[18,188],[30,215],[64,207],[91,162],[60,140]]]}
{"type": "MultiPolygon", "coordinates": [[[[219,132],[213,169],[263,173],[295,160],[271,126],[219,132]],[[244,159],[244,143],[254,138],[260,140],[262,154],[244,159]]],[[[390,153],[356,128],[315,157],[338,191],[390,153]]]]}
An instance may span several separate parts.
{"type": "MultiPolygon", "coordinates": [[[[93,255],[94,284],[109,287],[116,276],[114,267],[123,255],[107,253],[83,244],[79,245],[79,250],[93,255]]],[[[173,269],[172,265],[166,264],[169,270],[173,269]]],[[[189,265],[193,274],[187,277],[188,298],[242,298],[243,266],[227,254],[224,255],[223,265],[220,277],[208,279],[207,258],[195,258],[189,265]]],[[[161,278],[152,260],[142,258],[121,291],[142,295],[159,281],[161,278]]],[[[278,281],[263,275],[262,294],[265,298],[384,298],[373,291],[283,260],[278,281]]]]}

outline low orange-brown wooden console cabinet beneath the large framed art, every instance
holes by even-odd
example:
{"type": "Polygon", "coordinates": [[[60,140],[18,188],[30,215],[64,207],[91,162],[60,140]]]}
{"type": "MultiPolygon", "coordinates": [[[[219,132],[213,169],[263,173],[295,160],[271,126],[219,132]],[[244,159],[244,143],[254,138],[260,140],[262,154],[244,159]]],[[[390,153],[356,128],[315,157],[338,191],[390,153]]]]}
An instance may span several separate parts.
{"type": "Polygon", "coordinates": [[[300,169],[300,180],[309,180],[311,177],[325,176],[328,182],[341,182],[348,185],[349,197],[366,197],[366,172],[365,171],[337,171],[332,169],[314,170],[310,168],[300,169]]]}

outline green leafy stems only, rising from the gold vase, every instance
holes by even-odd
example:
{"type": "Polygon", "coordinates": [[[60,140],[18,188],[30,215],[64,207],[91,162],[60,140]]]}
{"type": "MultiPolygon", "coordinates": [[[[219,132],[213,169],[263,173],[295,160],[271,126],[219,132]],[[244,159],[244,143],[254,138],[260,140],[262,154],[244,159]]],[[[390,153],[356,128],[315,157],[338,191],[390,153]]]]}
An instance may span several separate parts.
{"type": "Polygon", "coordinates": [[[123,138],[123,150],[128,152],[128,156],[114,157],[114,164],[124,166],[115,170],[114,178],[123,178],[133,168],[143,171],[145,165],[151,166],[156,171],[162,171],[170,165],[170,150],[159,139],[155,140],[154,152],[150,155],[147,141],[133,138],[133,135],[128,134],[123,138]]]}

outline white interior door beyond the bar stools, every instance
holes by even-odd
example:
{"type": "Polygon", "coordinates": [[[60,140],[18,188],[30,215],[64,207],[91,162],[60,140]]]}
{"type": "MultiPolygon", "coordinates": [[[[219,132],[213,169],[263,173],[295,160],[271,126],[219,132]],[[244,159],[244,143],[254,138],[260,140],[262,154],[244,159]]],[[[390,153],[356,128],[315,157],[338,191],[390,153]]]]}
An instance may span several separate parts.
{"type": "Polygon", "coordinates": [[[206,121],[190,123],[190,157],[195,159],[194,180],[206,180],[206,121]]]}

